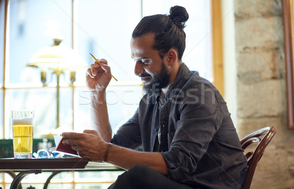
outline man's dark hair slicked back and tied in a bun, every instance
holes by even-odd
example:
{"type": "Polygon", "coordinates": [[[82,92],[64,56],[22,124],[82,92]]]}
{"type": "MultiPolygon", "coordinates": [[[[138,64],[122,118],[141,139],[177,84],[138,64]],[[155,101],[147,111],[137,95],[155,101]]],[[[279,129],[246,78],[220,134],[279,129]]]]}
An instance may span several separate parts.
{"type": "Polygon", "coordinates": [[[153,49],[164,55],[174,48],[178,52],[178,59],[182,60],[186,47],[185,22],[189,15],[184,7],[173,6],[170,15],[152,15],[144,17],[133,31],[132,38],[140,38],[146,34],[154,34],[153,49]]]}

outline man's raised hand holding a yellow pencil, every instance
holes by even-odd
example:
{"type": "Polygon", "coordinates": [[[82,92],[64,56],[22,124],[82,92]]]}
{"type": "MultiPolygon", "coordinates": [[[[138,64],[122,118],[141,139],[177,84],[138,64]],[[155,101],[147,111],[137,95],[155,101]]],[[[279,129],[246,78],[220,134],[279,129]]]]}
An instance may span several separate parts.
{"type": "Polygon", "coordinates": [[[111,80],[110,67],[105,59],[100,60],[101,66],[95,61],[86,73],[87,86],[92,90],[105,91],[111,80]]]}

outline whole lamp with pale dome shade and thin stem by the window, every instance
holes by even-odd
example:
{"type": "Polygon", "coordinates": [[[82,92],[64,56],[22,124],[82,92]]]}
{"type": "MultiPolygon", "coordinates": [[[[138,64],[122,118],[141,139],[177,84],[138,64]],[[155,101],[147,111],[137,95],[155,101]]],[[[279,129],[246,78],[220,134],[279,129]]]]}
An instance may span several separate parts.
{"type": "MultiPolygon", "coordinates": [[[[46,86],[46,70],[52,69],[53,74],[57,76],[56,85],[56,127],[59,124],[59,77],[64,73],[64,70],[71,70],[71,83],[75,81],[75,69],[86,67],[87,63],[70,47],[61,43],[62,39],[54,39],[51,46],[47,46],[38,50],[26,64],[31,67],[41,69],[41,81],[43,86],[46,86]]],[[[52,133],[52,132],[51,132],[52,133]]]]}

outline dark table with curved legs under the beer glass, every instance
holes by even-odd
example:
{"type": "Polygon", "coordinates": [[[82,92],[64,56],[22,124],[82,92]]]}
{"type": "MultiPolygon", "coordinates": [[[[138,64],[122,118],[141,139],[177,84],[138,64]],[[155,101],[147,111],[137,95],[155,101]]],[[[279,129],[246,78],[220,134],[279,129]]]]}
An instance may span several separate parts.
{"type": "MultiPolygon", "coordinates": [[[[21,181],[28,174],[38,174],[42,171],[52,171],[53,174],[47,179],[44,189],[50,179],[59,172],[70,170],[123,170],[111,164],[92,162],[86,158],[51,158],[51,159],[0,159],[0,171],[11,173],[20,171],[13,179],[10,189],[17,189],[21,181]]],[[[9,173],[9,174],[10,174],[9,173]]],[[[11,174],[10,174],[11,175],[11,174]]]]}

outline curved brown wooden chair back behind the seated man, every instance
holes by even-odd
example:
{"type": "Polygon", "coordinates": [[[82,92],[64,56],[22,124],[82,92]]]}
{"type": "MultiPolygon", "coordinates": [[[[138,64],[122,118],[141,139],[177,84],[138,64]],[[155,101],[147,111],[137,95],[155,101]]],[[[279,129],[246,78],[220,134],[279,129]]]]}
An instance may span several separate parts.
{"type": "Polygon", "coordinates": [[[243,189],[249,189],[251,185],[251,181],[253,178],[253,174],[256,168],[257,163],[259,162],[260,158],[262,157],[266,147],[270,143],[270,140],[272,139],[273,135],[276,133],[276,128],[268,126],[261,128],[259,130],[256,130],[252,132],[251,134],[248,134],[243,139],[241,139],[241,147],[245,149],[252,143],[258,143],[257,147],[254,149],[254,151],[249,151],[245,154],[247,158],[247,173],[244,179],[244,183],[242,185],[243,189]],[[264,135],[263,138],[261,138],[264,135]]]}

